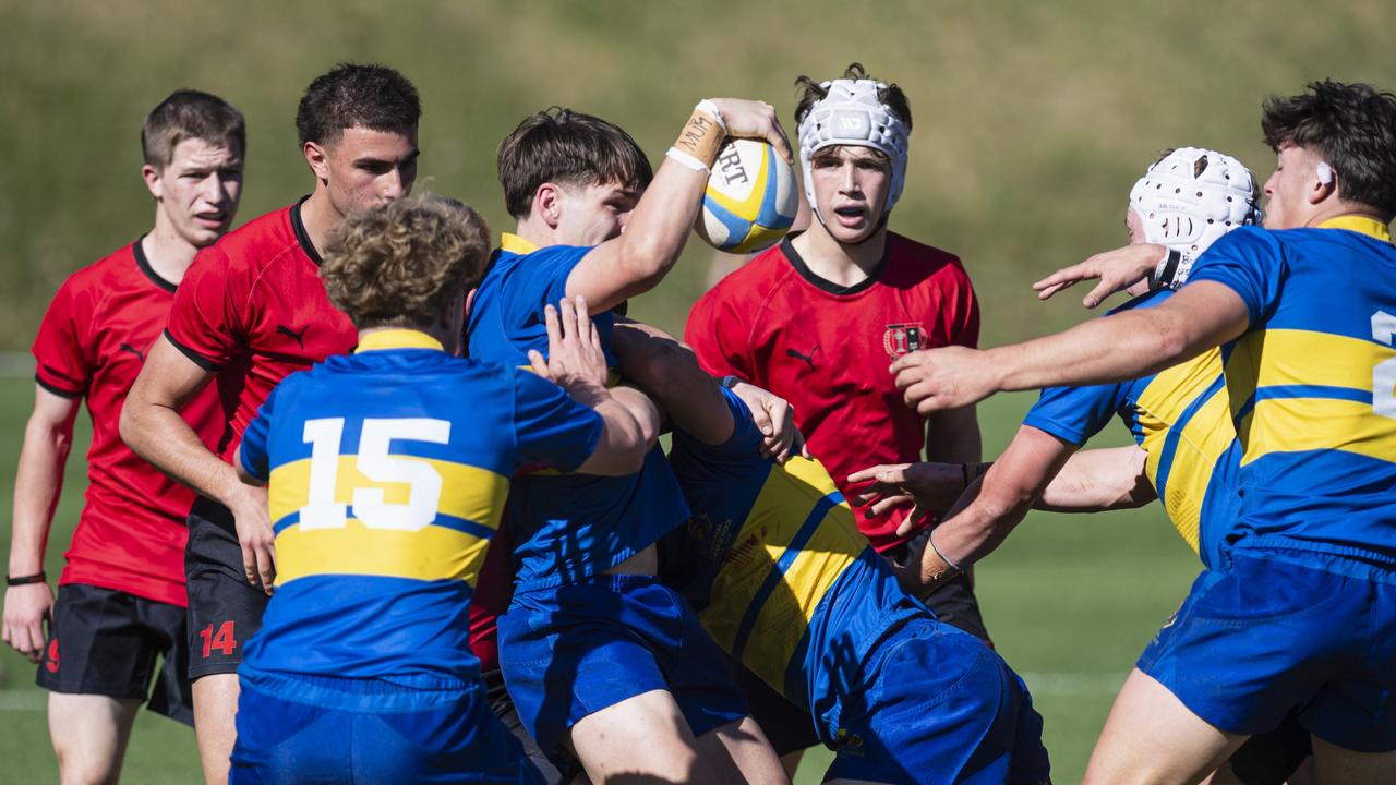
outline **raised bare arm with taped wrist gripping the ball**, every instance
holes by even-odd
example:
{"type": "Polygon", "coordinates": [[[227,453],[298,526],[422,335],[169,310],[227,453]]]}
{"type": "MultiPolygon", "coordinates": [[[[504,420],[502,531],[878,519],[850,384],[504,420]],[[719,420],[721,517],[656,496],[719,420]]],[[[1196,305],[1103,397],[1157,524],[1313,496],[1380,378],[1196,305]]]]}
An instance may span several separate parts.
{"type": "Polygon", "coordinates": [[[762,138],[793,161],[776,110],[759,101],[720,98],[694,110],[673,151],[625,223],[625,232],[588,253],[567,278],[567,296],[585,296],[592,313],[653,289],[669,274],[692,229],[708,169],[725,137],[762,138]],[[709,109],[711,108],[711,109],[709,109]],[[716,110],[720,117],[713,117],[716,110]]]}

